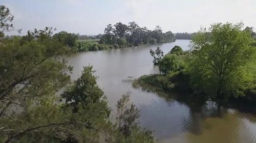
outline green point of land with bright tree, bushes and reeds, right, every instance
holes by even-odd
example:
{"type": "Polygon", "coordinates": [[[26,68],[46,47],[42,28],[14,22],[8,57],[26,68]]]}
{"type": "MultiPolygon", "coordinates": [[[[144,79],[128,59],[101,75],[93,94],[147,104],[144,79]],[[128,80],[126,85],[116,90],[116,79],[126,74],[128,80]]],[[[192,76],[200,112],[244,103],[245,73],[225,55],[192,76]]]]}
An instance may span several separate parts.
{"type": "Polygon", "coordinates": [[[189,51],[179,46],[165,55],[159,47],[150,50],[161,74],[142,76],[134,85],[154,91],[187,92],[224,105],[235,101],[254,107],[255,33],[243,26],[227,22],[202,28],[191,39],[189,51]]]}

